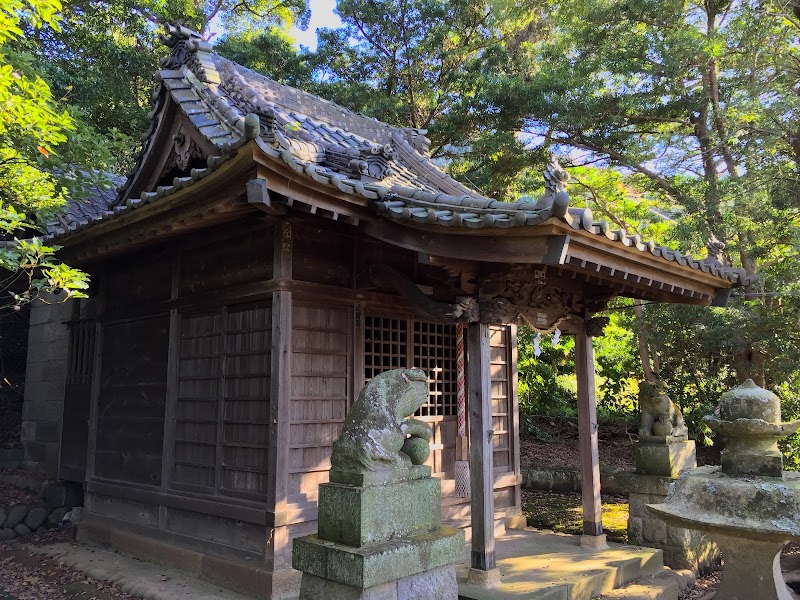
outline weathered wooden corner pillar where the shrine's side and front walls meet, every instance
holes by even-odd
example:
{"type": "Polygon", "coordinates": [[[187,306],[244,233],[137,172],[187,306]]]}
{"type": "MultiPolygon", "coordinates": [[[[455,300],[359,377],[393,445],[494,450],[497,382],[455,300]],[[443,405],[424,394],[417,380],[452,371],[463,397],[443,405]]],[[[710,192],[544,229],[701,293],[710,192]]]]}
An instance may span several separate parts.
{"type": "MultiPolygon", "coordinates": [[[[292,228],[289,223],[274,229],[273,279],[292,278],[292,228]]],[[[288,567],[291,547],[287,527],[287,485],[289,448],[289,402],[292,378],[292,292],[278,290],[272,295],[272,349],[270,379],[270,430],[267,510],[273,523],[267,527],[265,566],[288,567]]]]}

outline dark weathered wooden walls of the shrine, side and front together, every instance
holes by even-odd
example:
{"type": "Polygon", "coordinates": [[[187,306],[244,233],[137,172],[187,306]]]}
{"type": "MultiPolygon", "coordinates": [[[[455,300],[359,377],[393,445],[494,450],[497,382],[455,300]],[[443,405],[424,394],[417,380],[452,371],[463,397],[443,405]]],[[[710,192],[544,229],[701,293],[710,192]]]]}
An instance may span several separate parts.
{"type": "MultiPolygon", "coordinates": [[[[105,266],[88,512],[286,567],[290,540],[315,531],[318,486],[350,403],[366,380],[405,366],[429,374],[431,400],[418,416],[434,429],[429,464],[452,494],[455,326],[360,289],[370,264],[411,276],[431,267],[320,223],[237,223],[105,266]],[[276,361],[282,297],[291,297],[290,351],[276,361]],[[287,362],[277,385],[272,370],[287,362]],[[271,432],[275,415],[286,425],[271,432]]],[[[491,337],[498,509],[519,504],[512,331],[491,337]]]]}

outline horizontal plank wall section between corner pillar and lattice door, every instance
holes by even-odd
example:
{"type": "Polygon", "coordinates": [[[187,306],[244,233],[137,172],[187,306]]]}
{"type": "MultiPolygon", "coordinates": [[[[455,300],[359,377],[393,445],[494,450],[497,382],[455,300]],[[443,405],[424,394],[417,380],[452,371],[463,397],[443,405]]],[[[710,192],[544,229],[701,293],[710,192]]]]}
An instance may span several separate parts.
{"type": "Polygon", "coordinates": [[[290,501],[315,499],[351,398],[351,309],[294,304],[289,405],[290,501]]]}

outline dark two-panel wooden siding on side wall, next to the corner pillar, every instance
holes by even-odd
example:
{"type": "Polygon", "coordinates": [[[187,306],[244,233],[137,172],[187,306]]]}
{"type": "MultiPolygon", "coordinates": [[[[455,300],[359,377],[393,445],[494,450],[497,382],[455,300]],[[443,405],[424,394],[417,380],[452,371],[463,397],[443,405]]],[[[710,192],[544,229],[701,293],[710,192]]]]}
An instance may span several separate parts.
{"type": "Polygon", "coordinates": [[[271,307],[181,317],[173,485],[263,501],[271,307]]]}

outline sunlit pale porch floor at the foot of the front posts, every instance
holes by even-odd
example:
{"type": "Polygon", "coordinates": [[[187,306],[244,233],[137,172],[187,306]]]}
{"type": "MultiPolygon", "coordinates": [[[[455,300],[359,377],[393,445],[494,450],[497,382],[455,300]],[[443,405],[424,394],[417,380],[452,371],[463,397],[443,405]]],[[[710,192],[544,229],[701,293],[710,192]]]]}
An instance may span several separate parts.
{"type": "Polygon", "coordinates": [[[580,538],[536,529],[508,530],[496,541],[501,585],[467,584],[469,551],[456,566],[460,600],[590,600],[663,569],[661,550],[609,544],[580,547],[580,538]]]}

